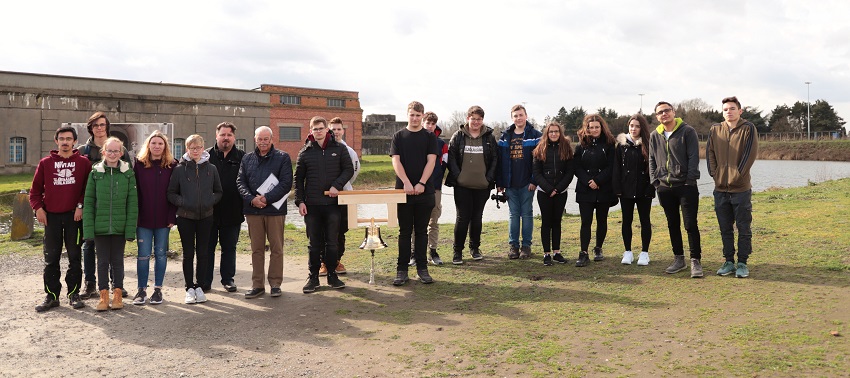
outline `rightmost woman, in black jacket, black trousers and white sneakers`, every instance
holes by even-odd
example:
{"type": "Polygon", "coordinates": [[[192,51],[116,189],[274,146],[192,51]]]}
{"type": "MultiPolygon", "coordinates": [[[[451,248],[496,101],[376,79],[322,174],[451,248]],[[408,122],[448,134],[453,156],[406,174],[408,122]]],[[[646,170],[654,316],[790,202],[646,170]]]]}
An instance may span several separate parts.
{"type": "Polygon", "coordinates": [[[649,210],[655,187],[649,184],[649,125],[640,114],[629,118],[629,133],[617,136],[614,153],[614,194],[620,197],[623,209],[623,264],[634,261],[632,254],[632,220],[635,205],[640,216],[641,252],[638,265],[649,265],[649,242],[652,240],[652,224],[649,210]]]}

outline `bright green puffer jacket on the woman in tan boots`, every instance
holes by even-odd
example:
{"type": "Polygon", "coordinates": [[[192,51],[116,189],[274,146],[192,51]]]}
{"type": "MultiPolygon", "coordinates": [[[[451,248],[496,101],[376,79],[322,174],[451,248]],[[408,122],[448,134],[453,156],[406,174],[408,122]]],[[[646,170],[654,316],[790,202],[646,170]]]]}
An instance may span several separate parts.
{"type": "Polygon", "coordinates": [[[92,166],[83,203],[83,238],[95,235],[124,235],[136,238],[139,202],[136,175],[130,164],[119,161],[118,168],[104,161],[92,166]]]}

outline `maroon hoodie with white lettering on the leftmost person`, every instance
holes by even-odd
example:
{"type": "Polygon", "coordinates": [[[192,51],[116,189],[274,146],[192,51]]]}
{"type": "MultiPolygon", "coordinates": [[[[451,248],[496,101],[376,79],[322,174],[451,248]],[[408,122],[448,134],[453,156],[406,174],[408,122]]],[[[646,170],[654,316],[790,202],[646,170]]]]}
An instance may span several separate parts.
{"type": "Polygon", "coordinates": [[[30,188],[30,206],[50,213],[65,213],[83,203],[91,162],[76,149],[71,157],[59,156],[58,150],[38,162],[30,188]]]}

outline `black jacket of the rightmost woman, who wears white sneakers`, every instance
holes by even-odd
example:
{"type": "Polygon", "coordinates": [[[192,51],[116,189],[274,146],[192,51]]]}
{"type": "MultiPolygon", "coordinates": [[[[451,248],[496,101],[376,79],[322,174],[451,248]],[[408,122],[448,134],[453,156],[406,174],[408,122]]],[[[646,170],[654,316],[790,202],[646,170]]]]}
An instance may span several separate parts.
{"type": "Polygon", "coordinates": [[[655,187],[649,183],[649,161],[643,157],[643,142],[632,141],[626,134],[617,136],[614,153],[614,194],[625,198],[653,198],[655,187]]]}

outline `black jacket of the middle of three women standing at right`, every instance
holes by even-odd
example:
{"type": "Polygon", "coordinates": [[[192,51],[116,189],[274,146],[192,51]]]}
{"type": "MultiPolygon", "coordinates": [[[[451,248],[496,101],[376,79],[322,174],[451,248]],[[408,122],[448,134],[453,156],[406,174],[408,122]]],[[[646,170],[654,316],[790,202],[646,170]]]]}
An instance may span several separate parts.
{"type": "Polygon", "coordinates": [[[576,202],[596,202],[610,204],[617,199],[611,188],[614,172],[614,145],[604,140],[592,139],[590,144],[576,147],[576,202]],[[593,180],[599,189],[591,189],[593,180]]]}

